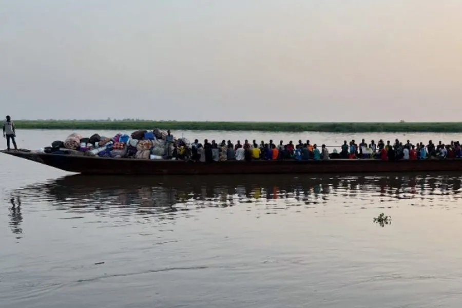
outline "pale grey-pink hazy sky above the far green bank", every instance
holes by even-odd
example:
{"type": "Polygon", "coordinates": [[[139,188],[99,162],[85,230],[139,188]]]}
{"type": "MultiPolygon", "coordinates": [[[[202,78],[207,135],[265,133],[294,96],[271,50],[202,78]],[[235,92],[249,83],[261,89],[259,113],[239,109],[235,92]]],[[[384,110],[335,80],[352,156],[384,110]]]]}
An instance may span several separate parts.
{"type": "Polygon", "coordinates": [[[13,119],[460,121],[460,0],[0,0],[13,119]]]}

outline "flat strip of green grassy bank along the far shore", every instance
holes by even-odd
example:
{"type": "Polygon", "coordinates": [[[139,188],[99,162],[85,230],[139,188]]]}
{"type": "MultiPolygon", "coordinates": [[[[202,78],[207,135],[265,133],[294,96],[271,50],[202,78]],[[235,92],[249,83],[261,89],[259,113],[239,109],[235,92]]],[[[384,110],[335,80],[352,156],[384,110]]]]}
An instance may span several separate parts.
{"type": "Polygon", "coordinates": [[[229,130],[229,131],[321,131],[321,132],[462,132],[462,122],[195,122],[195,121],[84,121],[17,120],[16,129],[93,130],[229,130]]]}

